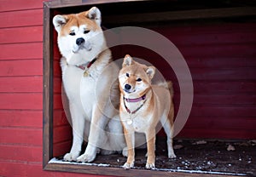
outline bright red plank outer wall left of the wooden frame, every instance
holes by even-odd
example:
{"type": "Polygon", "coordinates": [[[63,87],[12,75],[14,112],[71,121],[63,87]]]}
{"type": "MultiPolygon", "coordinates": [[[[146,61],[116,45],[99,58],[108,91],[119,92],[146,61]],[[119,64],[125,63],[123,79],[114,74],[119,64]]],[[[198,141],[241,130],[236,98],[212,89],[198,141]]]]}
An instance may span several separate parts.
{"type": "Polygon", "coordinates": [[[43,0],[1,0],[0,20],[0,176],[95,176],[43,171],[43,0]]]}

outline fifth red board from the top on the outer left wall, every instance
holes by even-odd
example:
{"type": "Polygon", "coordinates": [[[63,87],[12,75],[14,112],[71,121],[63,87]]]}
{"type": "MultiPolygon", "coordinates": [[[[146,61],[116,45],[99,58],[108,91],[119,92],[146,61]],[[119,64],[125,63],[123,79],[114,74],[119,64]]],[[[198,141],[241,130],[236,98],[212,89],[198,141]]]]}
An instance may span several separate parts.
{"type": "Polygon", "coordinates": [[[43,76],[43,60],[0,60],[0,77],[43,76]]]}

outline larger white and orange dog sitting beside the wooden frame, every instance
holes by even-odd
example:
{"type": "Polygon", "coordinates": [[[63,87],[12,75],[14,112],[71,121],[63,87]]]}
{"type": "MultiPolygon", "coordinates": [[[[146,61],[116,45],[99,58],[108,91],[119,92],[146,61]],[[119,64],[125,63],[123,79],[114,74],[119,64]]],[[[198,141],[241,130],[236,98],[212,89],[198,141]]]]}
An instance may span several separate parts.
{"type": "Polygon", "coordinates": [[[92,162],[98,147],[108,150],[102,151],[105,154],[125,148],[118,110],[119,68],[112,65],[101,19],[96,7],[79,14],[58,14],[53,19],[73,125],[73,145],[64,156],[66,161],[92,162]],[[80,155],[84,134],[89,134],[88,145],[80,155]]]}

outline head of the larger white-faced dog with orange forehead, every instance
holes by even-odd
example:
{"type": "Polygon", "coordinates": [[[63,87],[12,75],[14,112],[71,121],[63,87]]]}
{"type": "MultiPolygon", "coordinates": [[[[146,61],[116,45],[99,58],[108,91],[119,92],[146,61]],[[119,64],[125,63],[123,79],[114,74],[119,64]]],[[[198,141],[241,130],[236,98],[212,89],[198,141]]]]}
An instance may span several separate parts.
{"type": "Polygon", "coordinates": [[[71,60],[73,56],[86,60],[106,47],[101,22],[102,15],[96,7],[79,14],[55,15],[53,24],[58,32],[58,46],[68,63],[75,62],[71,60]]]}

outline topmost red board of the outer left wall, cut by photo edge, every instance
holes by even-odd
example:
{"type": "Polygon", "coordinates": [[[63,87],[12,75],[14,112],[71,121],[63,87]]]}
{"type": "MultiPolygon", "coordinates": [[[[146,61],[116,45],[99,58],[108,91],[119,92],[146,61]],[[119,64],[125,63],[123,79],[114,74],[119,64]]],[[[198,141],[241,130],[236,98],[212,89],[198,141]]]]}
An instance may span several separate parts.
{"type": "Polygon", "coordinates": [[[14,10],[26,10],[26,9],[41,9],[43,8],[43,0],[32,1],[32,0],[1,0],[0,12],[14,11],[14,10]]]}

